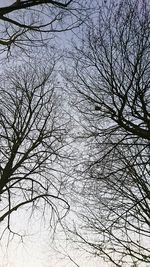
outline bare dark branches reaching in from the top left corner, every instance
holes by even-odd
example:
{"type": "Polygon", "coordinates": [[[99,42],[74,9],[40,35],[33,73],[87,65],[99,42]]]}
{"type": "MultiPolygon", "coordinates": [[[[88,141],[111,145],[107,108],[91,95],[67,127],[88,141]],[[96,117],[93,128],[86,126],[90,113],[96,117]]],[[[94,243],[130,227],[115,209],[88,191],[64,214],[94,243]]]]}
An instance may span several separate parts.
{"type": "Polygon", "coordinates": [[[12,1],[0,7],[1,52],[17,46],[46,45],[52,34],[78,27],[84,20],[81,4],[70,1],[12,1]],[[81,14],[82,13],[82,14],[81,14]]]}

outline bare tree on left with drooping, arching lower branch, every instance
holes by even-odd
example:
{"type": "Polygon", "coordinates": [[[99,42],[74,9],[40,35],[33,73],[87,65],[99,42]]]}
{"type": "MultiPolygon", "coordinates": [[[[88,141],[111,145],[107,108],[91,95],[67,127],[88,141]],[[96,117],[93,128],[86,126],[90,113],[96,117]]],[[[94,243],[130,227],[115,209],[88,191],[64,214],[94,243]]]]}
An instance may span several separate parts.
{"type": "Polygon", "coordinates": [[[0,222],[12,233],[12,214],[24,207],[43,216],[48,206],[51,219],[59,220],[69,209],[61,195],[69,118],[61,109],[55,63],[21,64],[0,77],[0,222]]]}

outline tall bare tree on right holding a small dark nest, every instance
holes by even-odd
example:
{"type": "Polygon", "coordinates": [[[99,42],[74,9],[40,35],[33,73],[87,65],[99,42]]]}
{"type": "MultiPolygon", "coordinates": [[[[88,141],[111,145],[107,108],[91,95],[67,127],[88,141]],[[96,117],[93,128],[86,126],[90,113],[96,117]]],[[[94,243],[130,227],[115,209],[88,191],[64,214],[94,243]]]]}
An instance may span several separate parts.
{"type": "Polygon", "coordinates": [[[83,225],[72,231],[120,267],[150,263],[149,26],[147,1],[104,1],[66,77],[85,142],[83,225]]]}

